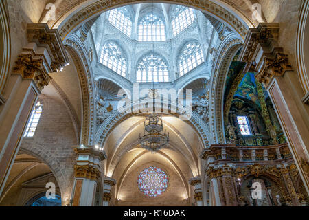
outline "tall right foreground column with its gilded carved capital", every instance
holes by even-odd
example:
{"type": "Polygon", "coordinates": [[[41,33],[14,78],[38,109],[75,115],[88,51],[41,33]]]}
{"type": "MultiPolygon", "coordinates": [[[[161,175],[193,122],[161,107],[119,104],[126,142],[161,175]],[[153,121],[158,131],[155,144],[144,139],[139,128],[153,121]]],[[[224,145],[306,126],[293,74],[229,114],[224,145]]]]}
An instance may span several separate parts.
{"type": "MultiPolygon", "coordinates": [[[[244,42],[240,60],[256,63],[256,79],[263,83],[267,89],[277,118],[284,130],[288,146],[299,175],[304,181],[304,186],[309,194],[309,135],[308,135],[308,111],[304,109],[301,98],[294,97],[295,88],[286,83],[288,76],[297,74],[290,65],[288,55],[279,47],[277,39],[279,35],[279,23],[260,23],[258,28],[251,28],[244,42]]],[[[268,127],[270,133],[271,127],[268,127]]],[[[272,135],[274,135],[273,132],[272,135]]]]}

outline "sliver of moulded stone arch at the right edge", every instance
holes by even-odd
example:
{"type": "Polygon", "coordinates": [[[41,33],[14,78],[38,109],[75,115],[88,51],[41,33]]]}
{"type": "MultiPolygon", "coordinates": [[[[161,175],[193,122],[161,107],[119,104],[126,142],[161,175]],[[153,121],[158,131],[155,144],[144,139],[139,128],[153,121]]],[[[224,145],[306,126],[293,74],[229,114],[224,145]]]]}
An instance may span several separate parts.
{"type": "Polygon", "coordinates": [[[299,14],[296,39],[297,72],[301,87],[308,99],[309,92],[309,1],[304,1],[299,14]],[[307,65],[306,65],[307,63],[307,65]]]}

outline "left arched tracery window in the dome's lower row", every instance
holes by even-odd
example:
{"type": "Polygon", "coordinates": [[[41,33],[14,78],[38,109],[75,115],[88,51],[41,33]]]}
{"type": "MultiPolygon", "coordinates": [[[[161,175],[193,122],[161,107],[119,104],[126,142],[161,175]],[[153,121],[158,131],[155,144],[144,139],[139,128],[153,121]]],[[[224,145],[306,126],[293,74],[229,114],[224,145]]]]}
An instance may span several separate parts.
{"type": "Polygon", "coordinates": [[[100,63],[126,77],[126,58],[122,49],[115,42],[108,41],[103,45],[100,63]]]}

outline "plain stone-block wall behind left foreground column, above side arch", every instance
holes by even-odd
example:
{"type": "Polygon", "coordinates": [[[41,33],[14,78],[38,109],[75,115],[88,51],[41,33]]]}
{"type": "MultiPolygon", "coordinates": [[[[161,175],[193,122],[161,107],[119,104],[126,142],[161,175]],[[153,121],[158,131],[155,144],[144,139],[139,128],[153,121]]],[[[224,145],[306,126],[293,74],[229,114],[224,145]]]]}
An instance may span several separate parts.
{"type": "Polygon", "coordinates": [[[39,99],[43,101],[40,122],[34,137],[23,138],[21,149],[33,153],[52,169],[64,201],[69,198],[73,185],[73,165],[76,155],[72,146],[78,144],[76,133],[71,117],[60,100],[44,94],[39,99]]]}

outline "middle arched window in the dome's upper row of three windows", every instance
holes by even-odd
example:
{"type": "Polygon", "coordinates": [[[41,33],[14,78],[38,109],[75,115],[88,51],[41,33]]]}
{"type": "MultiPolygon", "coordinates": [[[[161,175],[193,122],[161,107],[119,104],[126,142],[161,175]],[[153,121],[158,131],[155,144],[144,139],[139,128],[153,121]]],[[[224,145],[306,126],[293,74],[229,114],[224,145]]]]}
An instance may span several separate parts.
{"type": "Polygon", "coordinates": [[[155,14],[147,14],[138,26],[138,41],[165,41],[165,25],[160,17],[155,14]]]}

